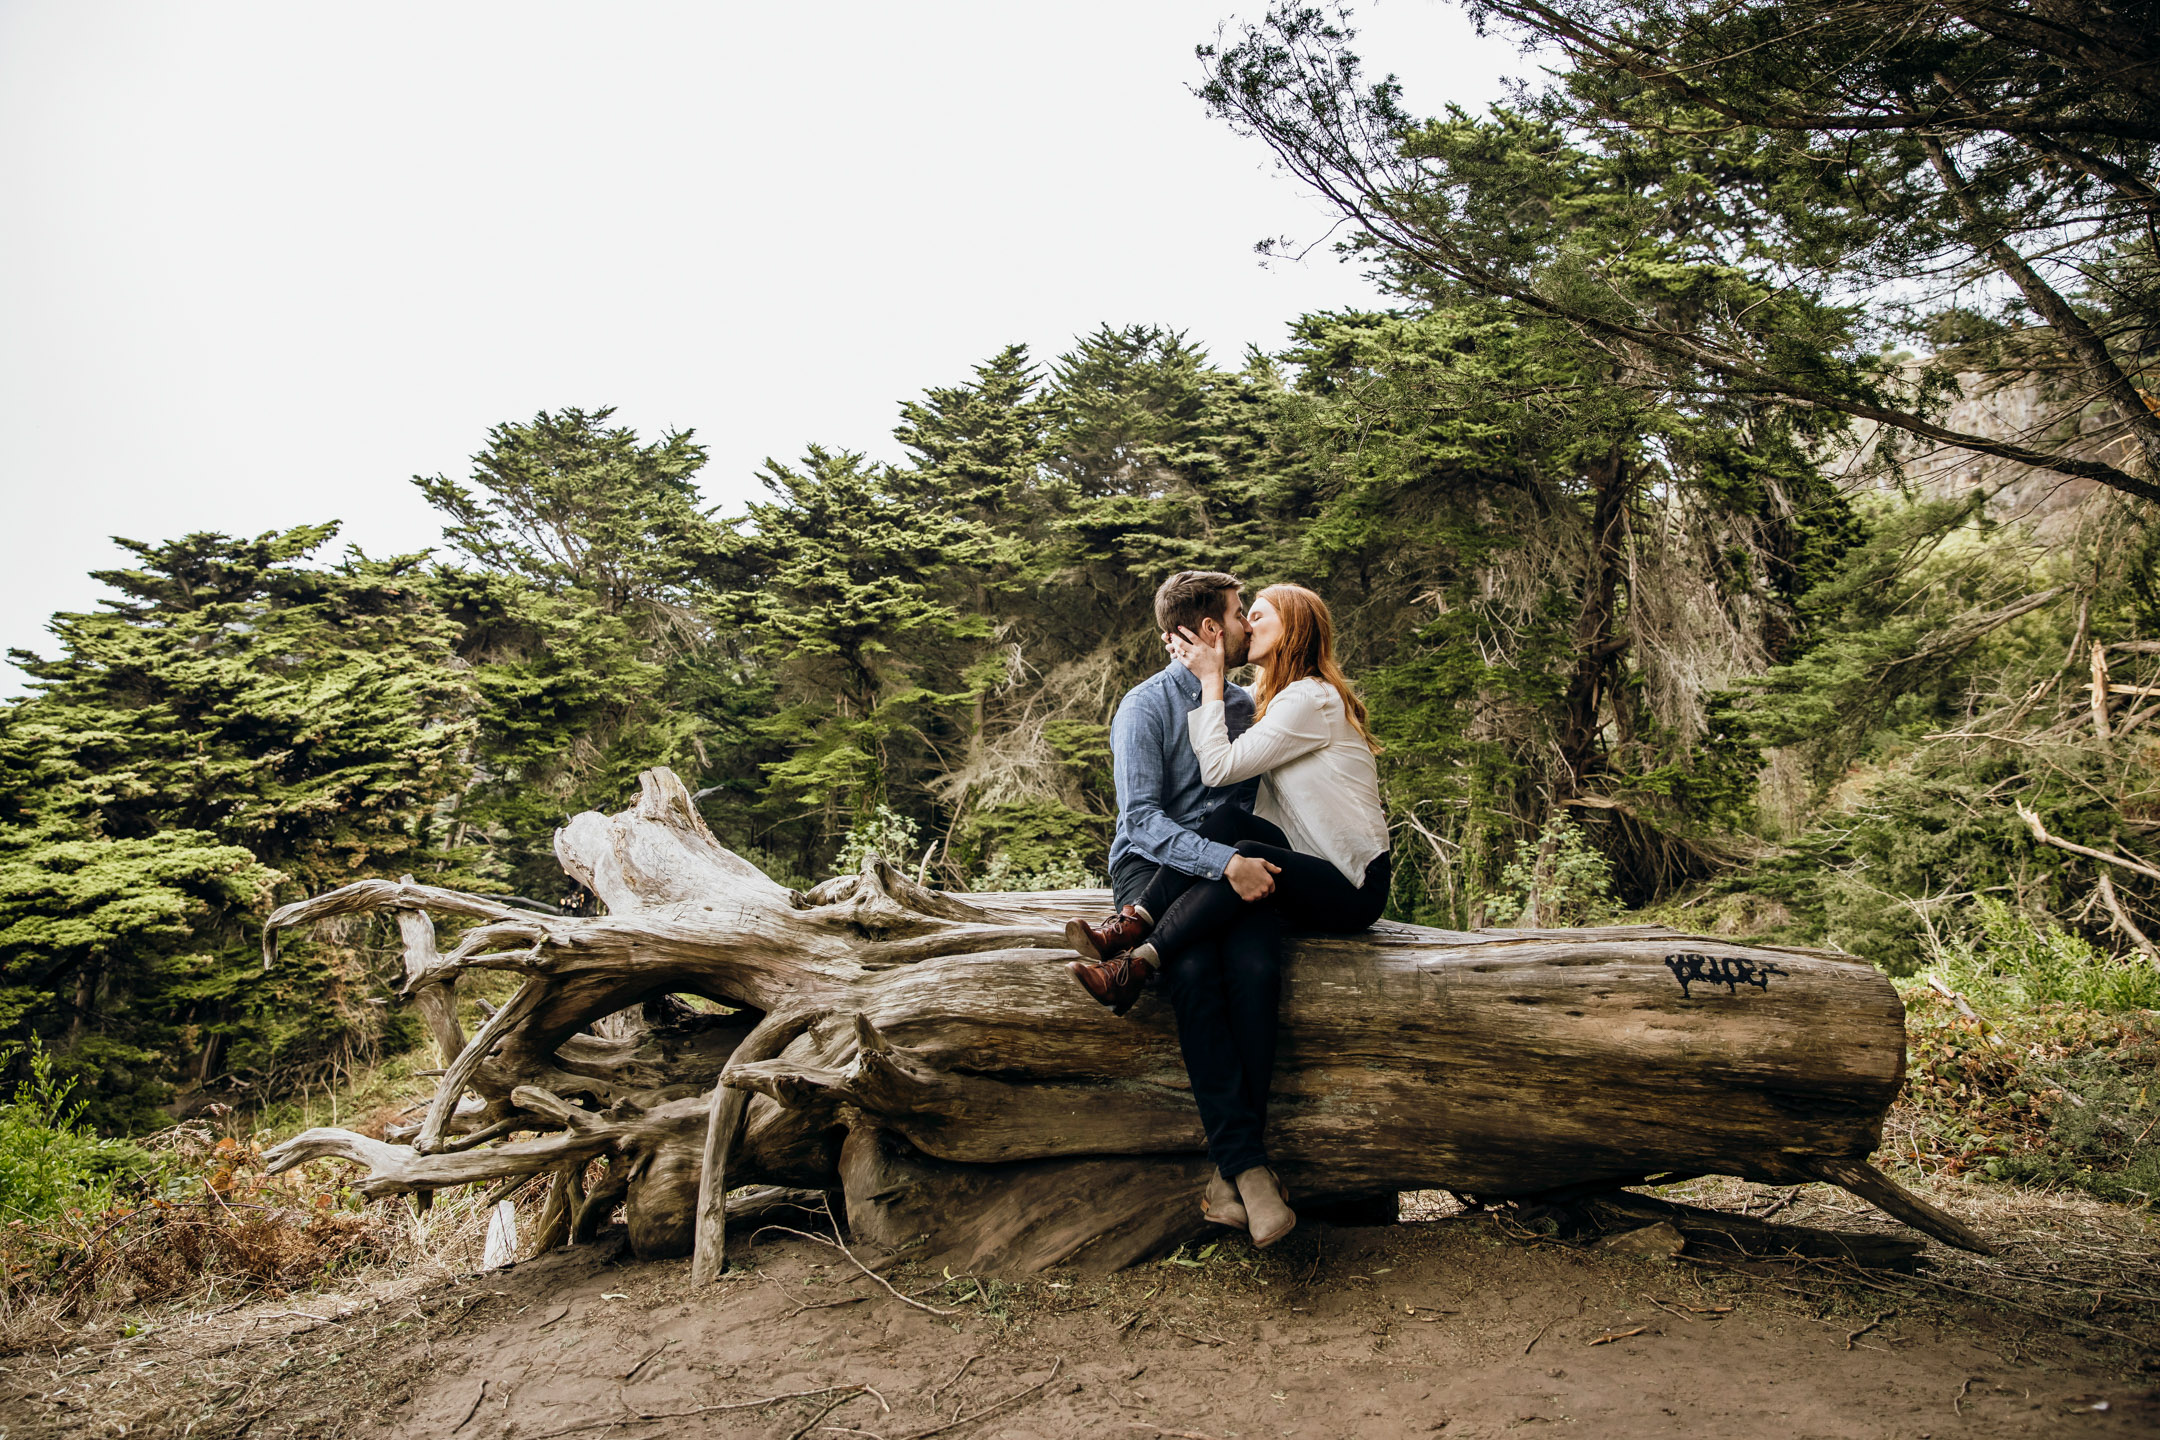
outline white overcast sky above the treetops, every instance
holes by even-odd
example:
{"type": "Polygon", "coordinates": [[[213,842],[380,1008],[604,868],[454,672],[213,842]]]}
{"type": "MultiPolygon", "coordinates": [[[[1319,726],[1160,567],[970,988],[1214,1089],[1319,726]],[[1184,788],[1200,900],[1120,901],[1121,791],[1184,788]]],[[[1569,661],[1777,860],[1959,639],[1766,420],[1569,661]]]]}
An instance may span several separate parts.
{"type": "MultiPolygon", "coordinates": [[[[1369,302],[1255,261],[1328,216],[1186,89],[1261,2],[0,0],[0,650],[110,535],[426,548],[408,477],[542,408],[696,430],[734,510],[1009,341],[1369,302]]],[[[1426,112],[1523,69],[1439,0],[1359,28],[1426,112]]]]}

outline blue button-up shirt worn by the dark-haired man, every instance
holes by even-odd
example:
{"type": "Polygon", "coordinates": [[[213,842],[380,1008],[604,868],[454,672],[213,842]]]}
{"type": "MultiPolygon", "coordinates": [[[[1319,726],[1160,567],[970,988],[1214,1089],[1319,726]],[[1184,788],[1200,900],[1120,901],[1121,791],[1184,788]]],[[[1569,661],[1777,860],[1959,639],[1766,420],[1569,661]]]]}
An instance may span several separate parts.
{"type": "MultiPolygon", "coordinates": [[[[1253,807],[1259,779],[1210,786],[1186,734],[1186,717],[1201,708],[1201,682],[1179,661],[1171,661],[1125,691],[1110,721],[1110,766],[1117,777],[1117,836],[1110,840],[1110,872],[1128,855],[1158,866],[1218,881],[1223,866],[1238,857],[1227,844],[1192,833],[1216,805],[1253,807]]],[[[1253,723],[1253,693],[1225,687],[1223,710],[1238,738],[1253,723]]]]}

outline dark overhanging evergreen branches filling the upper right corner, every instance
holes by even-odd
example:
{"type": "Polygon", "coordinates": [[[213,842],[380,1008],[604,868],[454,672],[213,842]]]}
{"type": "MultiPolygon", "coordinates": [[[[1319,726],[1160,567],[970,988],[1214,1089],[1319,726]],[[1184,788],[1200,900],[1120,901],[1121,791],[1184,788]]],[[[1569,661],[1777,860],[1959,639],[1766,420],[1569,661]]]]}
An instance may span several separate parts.
{"type": "Polygon", "coordinates": [[[1568,65],[1486,117],[1419,119],[1365,78],[1341,11],[1279,6],[1203,47],[1201,93],[1406,294],[1469,291],[1624,358],[1611,404],[1741,399],[1940,440],[1957,373],[2058,369],[2141,460],[2093,460],[2076,425],[1970,443],[2160,499],[2132,339],[2160,315],[2160,117],[2115,63],[2149,24],[1881,0],[1473,13],[1568,65]],[[1992,324],[1953,326],[1963,343],[1914,378],[1903,341],[1974,307],[1992,324]]]}

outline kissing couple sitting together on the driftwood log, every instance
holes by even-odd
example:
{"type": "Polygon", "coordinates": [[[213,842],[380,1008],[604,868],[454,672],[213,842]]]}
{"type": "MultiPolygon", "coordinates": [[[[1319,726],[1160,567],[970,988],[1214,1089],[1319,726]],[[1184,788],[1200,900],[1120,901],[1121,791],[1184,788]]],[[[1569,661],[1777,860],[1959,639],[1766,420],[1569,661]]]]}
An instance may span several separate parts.
{"type": "Polygon", "coordinates": [[[1117,913],[1065,937],[1115,1015],[1162,978],[1214,1164],[1201,1213],[1266,1248],[1298,1222],[1266,1146],[1283,937],[1363,930],[1387,905],[1374,741],[1311,589],[1270,585],[1248,611],[1238,576],[1179,570],[1156,626],[1171,661],[1110,721],[1117,913]],[[1251,691],[1229,682],[1246,663],[1251,691]]]}

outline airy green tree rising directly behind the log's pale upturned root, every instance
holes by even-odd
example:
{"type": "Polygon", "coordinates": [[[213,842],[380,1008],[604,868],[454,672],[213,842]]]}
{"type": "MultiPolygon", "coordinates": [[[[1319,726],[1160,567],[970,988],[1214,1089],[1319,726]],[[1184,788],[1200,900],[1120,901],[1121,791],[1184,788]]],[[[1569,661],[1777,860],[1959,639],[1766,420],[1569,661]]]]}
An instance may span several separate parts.
{"type": "Polygon", "coordinates": [[[464,561],[430,576],[475,691],[480,773],[454,827],[477,853],[462,859],[546,900],[564,885],[557,825],[620,805],[654,764],[698,779],[708,741],[741,738],[743,702],[765,693],[711,617],[737,570],[698,505],[704,447],[687,432],[639,443],[611,415],[503,423],[471,484],[415,477],[464,561]]]}

